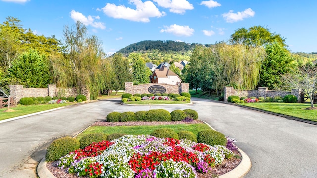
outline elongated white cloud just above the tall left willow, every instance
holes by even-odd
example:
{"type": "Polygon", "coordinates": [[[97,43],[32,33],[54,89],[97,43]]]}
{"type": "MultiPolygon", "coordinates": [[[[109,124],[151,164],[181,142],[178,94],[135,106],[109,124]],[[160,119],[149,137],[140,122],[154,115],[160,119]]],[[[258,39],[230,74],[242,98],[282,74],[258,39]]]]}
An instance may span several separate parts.
{"type": "Polygon", "coordinates": [[[99,28],[99,29],[106,29],[106,26],[102,22],[95,22],[95,19],[99,19],[99,16],[90,16],[86,17],[80,12],[76,12],[75,10],[72,10],[70,12],[70,17],[75,21],[80,21],[84,25],[88,26],[91,25],[92,27],[99,28]]]}

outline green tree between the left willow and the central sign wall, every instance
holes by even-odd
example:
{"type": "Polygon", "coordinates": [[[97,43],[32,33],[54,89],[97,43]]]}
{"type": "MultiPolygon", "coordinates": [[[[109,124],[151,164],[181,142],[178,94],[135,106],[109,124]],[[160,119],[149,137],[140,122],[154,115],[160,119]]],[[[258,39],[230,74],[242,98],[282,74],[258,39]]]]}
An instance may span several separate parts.
{"type": "Polygon", "coordinates": [[[112,84],[117,94],[118,90],[125,90],[125,82],[133,81],[129,60],[121,53],[115,53],[112,57],[112,68],[115,74],[112,84]]]}

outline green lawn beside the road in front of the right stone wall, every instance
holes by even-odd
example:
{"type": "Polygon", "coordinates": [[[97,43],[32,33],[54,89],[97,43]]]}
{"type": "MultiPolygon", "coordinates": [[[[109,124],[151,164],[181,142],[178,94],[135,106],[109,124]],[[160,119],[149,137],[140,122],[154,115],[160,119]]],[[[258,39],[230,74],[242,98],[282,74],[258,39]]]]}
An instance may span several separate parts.
{"type": "MultiPolygon", "coordinates": [[[[243,103],[243,106],[254,107],[265,111],[294,116],[301,119],[307,119],[317,122],[317,110],[306,110],[310,104],[306,103],[275,103],[275,102],[259,102],[259,103],[243,103]]],[[[317,107],[317,105],[315,105],[317,107]]]]}

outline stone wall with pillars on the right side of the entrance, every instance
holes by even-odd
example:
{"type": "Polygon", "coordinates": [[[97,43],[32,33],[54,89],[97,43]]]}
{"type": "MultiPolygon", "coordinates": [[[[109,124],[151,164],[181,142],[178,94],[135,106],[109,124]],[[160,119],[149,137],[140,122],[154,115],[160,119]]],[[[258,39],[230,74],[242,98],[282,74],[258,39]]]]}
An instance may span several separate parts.
{"type": "Polygon", "coordinates": [[[281,96],[284,97],[288,94],[293,94],[297,96],[298,102],[301,101],[301,89],[292,89],[291,92],[289,91],[269,91],[267,87],[259,87],[258,90],[238,90],[233,89],[233,87],[224,87],[224,102],[228,102],[228,97],[235,95],[235,96],[246,96],[246,97],[275,97],[281,96]]]}

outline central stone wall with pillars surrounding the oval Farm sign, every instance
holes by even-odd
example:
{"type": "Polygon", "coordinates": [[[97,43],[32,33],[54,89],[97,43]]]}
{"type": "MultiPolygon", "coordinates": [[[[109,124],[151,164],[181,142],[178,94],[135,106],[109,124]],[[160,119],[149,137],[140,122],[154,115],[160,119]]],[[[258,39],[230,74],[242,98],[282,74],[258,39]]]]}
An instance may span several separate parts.
{"type": "Polygon", "coordinates": [[[182,93],[189,91],[189,84],[188,83],[181,83],[180,85],[170,85],[164,83],[149,83],[149,84],[140,84],[140,85],[133,85],[133,82],[126,82],[125,83],[125,92],[134,94],[143,94],[143,93],[150,93],[148,88],[154,85],[162,86],[166,89],[165,93],[182,93]]]}

